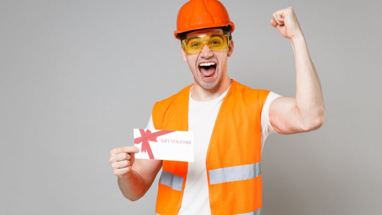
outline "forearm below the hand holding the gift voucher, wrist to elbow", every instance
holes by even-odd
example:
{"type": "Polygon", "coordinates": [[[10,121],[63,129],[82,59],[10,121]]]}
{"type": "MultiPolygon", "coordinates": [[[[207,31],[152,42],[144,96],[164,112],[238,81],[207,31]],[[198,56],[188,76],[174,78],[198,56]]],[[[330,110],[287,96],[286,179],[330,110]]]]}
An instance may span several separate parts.
{"type": "Polygon", "coordinates": [[[126,177],[118,178],[118,186],[124,197],[130,201],[140,199],[148,190],[143,178],[132,170],[126,177]]]}

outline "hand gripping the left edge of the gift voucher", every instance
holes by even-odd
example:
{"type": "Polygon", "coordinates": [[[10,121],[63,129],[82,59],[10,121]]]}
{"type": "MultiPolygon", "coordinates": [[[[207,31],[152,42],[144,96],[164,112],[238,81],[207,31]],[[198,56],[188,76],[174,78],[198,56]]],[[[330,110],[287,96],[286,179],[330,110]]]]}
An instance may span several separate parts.
{"type": "Polygon", "coordinates": [[[134,153],[138,151],[139,148],[134,146],[124,146],[112,149],[110,151],[109,162],[114,170],[114,175],[119,178],[125,177],[131,171],[131,167],[134,163],[134,153]]]}

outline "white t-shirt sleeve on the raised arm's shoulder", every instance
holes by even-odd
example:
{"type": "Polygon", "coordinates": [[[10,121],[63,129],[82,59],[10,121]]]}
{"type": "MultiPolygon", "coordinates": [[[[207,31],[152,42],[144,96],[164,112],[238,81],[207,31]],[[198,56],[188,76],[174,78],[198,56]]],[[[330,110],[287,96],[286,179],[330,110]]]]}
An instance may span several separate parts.
{"type": "Polygon", "coordinates": [[[261,150],[263,150],[264,142],[268,135],[277,133],[269,120],[269,107],[271,106],[271,103],[279,97],[281,97],[279,94],[272,91],[269,92],[263,110],[261,111],[261,150]]]}

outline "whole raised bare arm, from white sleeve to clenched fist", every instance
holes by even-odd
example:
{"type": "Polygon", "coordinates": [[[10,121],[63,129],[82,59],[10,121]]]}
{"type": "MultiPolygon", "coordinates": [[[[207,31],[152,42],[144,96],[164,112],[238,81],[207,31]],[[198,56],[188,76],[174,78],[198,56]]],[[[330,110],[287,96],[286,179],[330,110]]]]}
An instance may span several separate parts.
{"type": "Polygon", "coordinates": [[[290,39],[296,69],[296,96],[280,97],[272,102],[269,118],[281,134],[307,132],[321,127],[326,111],[320,80],[292,7],[276,11],[271,20],[284,37],[290,39]]]}

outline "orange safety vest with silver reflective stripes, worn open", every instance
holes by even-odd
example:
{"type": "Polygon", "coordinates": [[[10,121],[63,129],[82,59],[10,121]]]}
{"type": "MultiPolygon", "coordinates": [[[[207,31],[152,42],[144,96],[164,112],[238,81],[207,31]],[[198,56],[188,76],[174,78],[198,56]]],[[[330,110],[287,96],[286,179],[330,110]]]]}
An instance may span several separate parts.
{"type": "MultiPolygon", "coordinates": [[[[153,108],[155,129],[188,130],[191,85],[153,108]]],[[[261,111],[269,91],[232,80],[208,145],[209,205],[212,215],[261,215],[261,111]]],[[[163,161],[156,215],[177,215],[188,162],[163,161]]]]}

